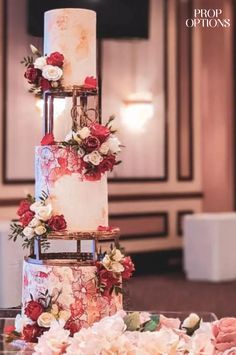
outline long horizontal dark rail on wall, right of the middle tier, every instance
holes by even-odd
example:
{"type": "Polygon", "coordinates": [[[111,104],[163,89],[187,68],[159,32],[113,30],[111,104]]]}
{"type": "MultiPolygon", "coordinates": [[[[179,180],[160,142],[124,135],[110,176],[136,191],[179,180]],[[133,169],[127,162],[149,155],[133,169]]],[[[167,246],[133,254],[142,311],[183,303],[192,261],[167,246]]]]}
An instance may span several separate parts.
{"type": "Polygon", "coordinates": [[[167,192],[160,194],[110,195],[109,202],[156,201],[156,200],[195,200],[204,197],[202,192],[167,192]]]}

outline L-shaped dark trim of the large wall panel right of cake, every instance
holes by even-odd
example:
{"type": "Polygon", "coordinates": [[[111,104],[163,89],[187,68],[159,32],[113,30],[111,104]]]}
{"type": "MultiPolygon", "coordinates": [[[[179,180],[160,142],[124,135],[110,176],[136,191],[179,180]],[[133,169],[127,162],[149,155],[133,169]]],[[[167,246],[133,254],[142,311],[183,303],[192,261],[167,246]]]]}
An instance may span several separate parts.
{"type": "Polygon", "coordinates": [[[168,130],[168,3],[163,0],[163,63],[164,63],[164,175],[159,177],[118,177],[108,179],[109,183],[167,182],[169,179],[169,130],[168,130]]]}

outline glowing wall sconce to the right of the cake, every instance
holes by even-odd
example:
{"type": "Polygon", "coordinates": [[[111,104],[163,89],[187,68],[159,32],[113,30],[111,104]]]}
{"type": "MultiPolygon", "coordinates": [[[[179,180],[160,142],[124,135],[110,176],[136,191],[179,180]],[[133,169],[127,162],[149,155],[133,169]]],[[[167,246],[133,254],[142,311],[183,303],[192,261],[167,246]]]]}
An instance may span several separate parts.
{"type": "Polygon", "coordinates": [[[142,133],[154,114],[153,102],[150,94],[132,94],[123,101],[121,120],[130,131],[142,133]]]}

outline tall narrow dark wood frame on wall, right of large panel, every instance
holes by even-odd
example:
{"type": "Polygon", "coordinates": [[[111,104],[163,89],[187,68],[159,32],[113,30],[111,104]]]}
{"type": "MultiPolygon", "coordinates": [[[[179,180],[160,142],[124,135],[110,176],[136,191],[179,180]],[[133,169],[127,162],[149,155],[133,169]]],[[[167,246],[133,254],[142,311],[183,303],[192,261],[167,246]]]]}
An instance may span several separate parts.
{"type": "MultiPolygon", "coordinates": [[[[182,72],[181,72],[181,57],[182,53],[180,52],[181,48],[181,32],[182,32],[182,26],[185,25],[185,22],[182,21],[180,17],[180,11],[181,11],[181,0],[178,0],[176,3],[176,44],[177,44],[177,53],[176,53],[176,105],[177,105],[177,115],[176,115],[176,141],[177,141],[177,147],[176,147],[176,154],[177,154],[177,180],[178,181],[192,181],[194,179],[194,134],[193,134],[193,81],[192,81],[192,70],[193,70],[193,58],[192,58],[192,28],[187,28],[186,27],[186,33],[188,34],[187,38],[187,45],[188,45],[188,78],[189,78],[189,100],[188,100],[188,118],[189,118],[189,138],[188,138],[188,146],[189,146],[189,174],[188,175],[183,175],[181,172],[181,105],[183,105],[184,98],[181,97],[181,90],[180,90],[180,85],[181,85],[181,78],[182,78],[182,72]]],[[[189,18],[192,16],[192,0],[188,0],[187,2],[188,5],[188,14],[189,18]]]]}

